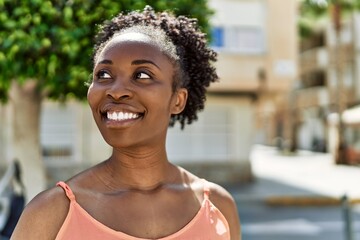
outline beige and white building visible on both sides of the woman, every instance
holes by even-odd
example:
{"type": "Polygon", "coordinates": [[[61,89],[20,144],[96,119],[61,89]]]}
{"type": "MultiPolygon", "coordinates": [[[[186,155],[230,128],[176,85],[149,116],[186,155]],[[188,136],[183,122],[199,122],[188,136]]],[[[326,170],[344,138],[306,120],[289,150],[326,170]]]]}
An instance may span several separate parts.
{"type": "MultiPolygon", "coordinates": [[[[274,144],[277,136],[290,139],[287,93],[297,75],[296,2],[209,1],[215,10],[212,47],[219,53],[220,82],[211,86],[197,122],[183,131],[178,125],[169,130],[171,161],[216,182],[247,181],[254,143],[274,144]]],[[[0,114],[5,111],[10,110],[0,114]]],[[[0,133],[0,143],[1,136],[11,135],[0,133]]],[[[111,153],[86,103],[45,102],[41,141],[50,181],[67,178],[111,153]]],[[[0,149],[0,158],[11,156],[9,151],[0,149]]]]}

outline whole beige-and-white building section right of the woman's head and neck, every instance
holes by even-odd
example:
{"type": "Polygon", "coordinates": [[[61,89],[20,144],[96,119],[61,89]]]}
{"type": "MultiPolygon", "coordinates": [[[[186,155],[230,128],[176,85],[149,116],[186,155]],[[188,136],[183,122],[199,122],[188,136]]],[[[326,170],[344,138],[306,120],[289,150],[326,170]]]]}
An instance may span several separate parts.
{"type": "Polygon", "coordinates": [[[247,180],[254,143],[291,139],[297,1],[210,0],[209,6],[220,81],[210,87],[199,122],[170,131],[169,154],[207,178],[247,180]]]}

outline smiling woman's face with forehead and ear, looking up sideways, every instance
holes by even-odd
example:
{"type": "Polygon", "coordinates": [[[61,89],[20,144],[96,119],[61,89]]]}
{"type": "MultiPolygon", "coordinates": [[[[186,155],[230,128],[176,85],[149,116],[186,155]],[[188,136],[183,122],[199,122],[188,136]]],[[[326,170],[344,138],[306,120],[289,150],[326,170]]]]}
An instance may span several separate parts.
{"type": "Polygon", "coordinates": [[[171,61],[148,36],[110,40],[96,59],[88,102],[111,146],[165,144],[171,114],[180,113],[187,98],[185,89],[173,91],[173,76],[171,61]]]}

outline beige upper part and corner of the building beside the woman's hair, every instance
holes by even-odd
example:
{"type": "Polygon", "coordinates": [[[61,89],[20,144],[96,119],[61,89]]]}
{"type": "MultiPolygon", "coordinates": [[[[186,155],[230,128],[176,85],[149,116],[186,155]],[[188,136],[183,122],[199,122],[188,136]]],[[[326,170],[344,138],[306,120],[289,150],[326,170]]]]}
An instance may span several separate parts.
{"type": "MultiPolygon", "coordinates": [[[[248,100],[253,141],[287,144],[297,76],[297,1],[210,1],[221,81],[214,93],[248,100]]],[[[244,103],[243,106],[246,106],[244,103]]],[[[248,127],[243,127],[248,128],[248,127]]],[[[248,139],[245,140],[248,142],[248,139]]]]}

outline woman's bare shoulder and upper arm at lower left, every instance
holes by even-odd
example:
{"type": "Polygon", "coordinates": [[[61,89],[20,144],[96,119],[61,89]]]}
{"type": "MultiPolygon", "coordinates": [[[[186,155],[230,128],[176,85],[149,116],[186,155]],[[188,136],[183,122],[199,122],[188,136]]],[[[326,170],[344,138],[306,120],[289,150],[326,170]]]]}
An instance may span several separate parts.
{"type": "Polygon", "coordinates": [[[25,207],[11,239],[55,239],[70,202],[60,187],[38,194],[25,207]]]}

